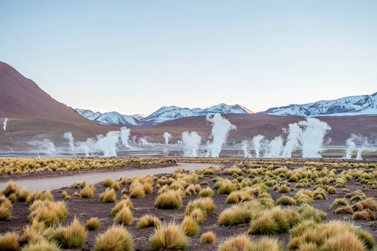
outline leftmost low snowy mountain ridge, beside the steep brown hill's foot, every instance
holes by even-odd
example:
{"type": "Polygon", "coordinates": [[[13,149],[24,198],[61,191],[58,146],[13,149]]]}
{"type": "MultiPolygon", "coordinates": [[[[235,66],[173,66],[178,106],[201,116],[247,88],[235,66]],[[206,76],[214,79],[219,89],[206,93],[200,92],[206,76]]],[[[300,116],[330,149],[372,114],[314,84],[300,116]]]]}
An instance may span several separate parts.
{"type": "Polygon", "coordinates": [[[140,124],[140,122],[134,117],[129,116],[129,115],[119,114],[117,111],[111,111],[110,113],[102,114],[102,113],[99,113],[99,111],[94,113],[94,111],[92,110],[85,110],[85,109],[79,109],[79,108],[76,108],[74,110],[81,116],[89,120],[96,121],[103,125],[137,126],[140,124]]]}

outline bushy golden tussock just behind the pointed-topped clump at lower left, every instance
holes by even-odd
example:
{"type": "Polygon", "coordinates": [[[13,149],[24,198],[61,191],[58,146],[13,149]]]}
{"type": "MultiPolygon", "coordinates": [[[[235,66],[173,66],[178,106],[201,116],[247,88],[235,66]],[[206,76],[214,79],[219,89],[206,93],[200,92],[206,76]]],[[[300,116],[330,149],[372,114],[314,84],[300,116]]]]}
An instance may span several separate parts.
{"type": "Polygon", "coordinates": [[[30,205],[30,222],[43,223],[46,227],[51,227],[64,221],[68,211],[64,202],[34,201],[30,205]]]}

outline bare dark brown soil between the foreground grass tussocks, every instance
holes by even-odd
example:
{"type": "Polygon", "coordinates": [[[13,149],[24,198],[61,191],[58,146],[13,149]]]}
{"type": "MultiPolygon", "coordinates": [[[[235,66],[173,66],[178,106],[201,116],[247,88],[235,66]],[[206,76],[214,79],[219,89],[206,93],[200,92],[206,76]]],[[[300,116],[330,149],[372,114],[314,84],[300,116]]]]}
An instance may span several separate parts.
{"type": "MultiPolygon", "coordinates": [[[[211,164],[208,164],[210,166],[211,164]]],[[[228,163],[227,166],[232,165],[231,163],[228,163]]],[[[298,166],[294,166],[292,168],[297,168],[298,166]]],[[[338,173],[340,173],[342,170],[338,170],[338,173]]],[[[162,175],[159,175],[159,177],[162,175]]],[[[225,173],[224,171],[221,171],[215,175],[205,175],[205,178],[202,180],[199,180],[197,183],[207,181],[209,183],[209,186],[213,189],[214,182],[212,181],[213,178],[221,176],[221,178],[227,178],[230,179],[231,177],[225,173]]],[[[248,174],[245,174],[244,177],[247,178],[248,174]]],[[[291,187],[293,188],[293,191],[289,193],[278,193],[274,191],[272,188],[270,188],[270,194],[273,198],[273,200],[277,200],[282,195],[288,195],[293,197],[294,194],[299,190],[294,188],[294,185],[296,183],[292,182],[291,187]]],[[[203,186],[206,187],[206,186],[203,186]]],[[[354,191],[358,188],[363,188],[362,184],[357,183],[357,181],[354,179],[346,184],[346,188],[349,188],[351,191],[354,191]]],[[[98,217],[102,223],[102,226],[98,231],[91,231],[88,233],[88,239],[85,243],[84,248],[82,250],[92,250],[94,242],[95,242],[95,236],[99,233],[104,232],[109,226],[113,224],[114,217],[110,214],[111,209],[114,207],[115,203],[99,203],[99,193],[103,192],[105,190],[105,187],[102,184],[96,184],[96,194],[92,199],[83,199],[81,197],[75,197],[72,196],[71,200],[66,201],[67,208],[68,208],[68,217],[65,220],[65,222],[71,222],[73,217],[76,215],[78,216],[83,222],[88,220],[90,217],[98,217]]],[[[120,190],[117,191],[117,200],[120,200],[121,198],[121,189],[127,188],[129,189],[129,185],[121,185],[120,190]]],[[[313,190],[313,186],[308,188],[313,190]]],[[[55,197],[55,200],[62,200],[65,201],[61,193],[62,191],[67,191],[68,194],[72,195],[75,191],[80,191],[79,189],[72,189],[72,188],[61,188],[58,190],[54,190],[53,194],[55,197]]],[[[198,198],[198,195],[194,196],[186,196],[183,199],[183,206],[176,210],[162,210],[162,209],[156,209],[154,207],[155,199],[157,198],[157,191],[156,187],[154,187],[152,194],[146,194],[144,199],[132,199],[133,205],[134,205],[134,222],[131,226],[125,227],[128,231],[130,231],[134,237],[135,241],[135,250],[152,250],[149,247],[148,239],[149,237],[154,233],[153,228],[146,228],[146,229],[137,229],[137,221],[138,219],[146,214],[154,214],[158,218],[161,219],[161,221],[177,221],[180,222],[183,218],[183,214],[186,208],[187,203],[190,200],[198,198]]],[[[238,233],[245,233],[249,229],[249,226],[247,224],[244,225],[238,225],[234,227],[220,227],[216,224],[218,215],[223,211],[224,209],[231,206],[231,204],[225,204],[225,199],[227,198],[227,194],[218,194],[217,190],[215,190],[215,196],[213,197],[213,201],[216,205],[215,213],[208,216],[208,218],[205,220],[205,222],[200,225],[200,233],[196,237],[189,237],[190,239],[190,246],[188,250],[216,250],[217,245],[221,240],[224,238],[227,238],[229,236],[233,236],[234,234],[238,233]],[[213,231],[218,240],[215,244],[200,244],[199,236],[200,234],[206,232],[206,231],[213,231]]],[[[370,189],[369,187],[364,190],[364,193],[367,197],[371,197],[374,199],[377,199],[377,190],[370,189]]],[[[341,219],[341,220],[352,220],[352,215],[349,214],[339,214],[335,215],[334,211],[335,209],[331,208],[332,203],[337,198],[343,198],[345,192],[342,192],[342,188],[337,188],[335,194],[328,194],[327,200],[315,200],[313,207],[320,209],[324,212],[326,212],[328,216],[328,220],[332,219],[341,219]]],[[[16,202],[13,206],[13,219],[10,221],[2,221],[0,224],[0,233],[4,233],[7,231],[18,231],[22,229],[23,226],[27,225],[28,222],[28,215],[29,215],[29,206],[26,202],[16,202]]],[[[376,221],[365,221],[365,220],[356,220],[355,221],[356,226],[360,226],[362,229],[369,231],[374,238],[377,240],[377,224],[376,221]]],[[[252,239],[258,239],[260,238],[259,235],[252,235],[250,236],[252,239]]],[[[289,241],[289,234],[280,234],[277,236],[279,240],[283,244],[287,244],[289,241]]]]}

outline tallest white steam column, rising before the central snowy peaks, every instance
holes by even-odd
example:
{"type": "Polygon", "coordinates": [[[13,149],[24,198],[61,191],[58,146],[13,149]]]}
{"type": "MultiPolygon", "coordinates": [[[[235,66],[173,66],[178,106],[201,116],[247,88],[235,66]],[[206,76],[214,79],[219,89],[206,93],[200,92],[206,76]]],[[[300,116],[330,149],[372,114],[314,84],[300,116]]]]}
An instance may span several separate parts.
{"type": "Polygon", "coordinates": [[[207,156],[218,158],[221,152],[222,145],[227,141],[228,133],[232,129],[236,129],[227,119],[220,114],[215,114],[212,117],[207,116],[207,121],[212,123],[211,136],[212,142],[207,142],[207,156]]]}

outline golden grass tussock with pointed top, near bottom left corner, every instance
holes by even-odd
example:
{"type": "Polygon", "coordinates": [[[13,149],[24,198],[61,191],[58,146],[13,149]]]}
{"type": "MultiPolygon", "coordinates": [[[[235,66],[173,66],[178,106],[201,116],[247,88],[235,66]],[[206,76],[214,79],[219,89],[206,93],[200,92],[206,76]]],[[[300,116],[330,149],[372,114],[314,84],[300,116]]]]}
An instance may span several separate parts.
{"type": "Polygon", "coordinates": [[[75,217],[69,226],[58,227],[53,230],[49,238],[55,240],[64,248],[81,248],[85,244],[87,232],[85,227],[75,217]]]}

